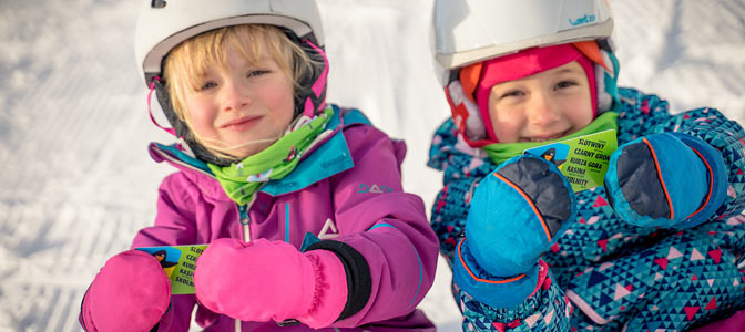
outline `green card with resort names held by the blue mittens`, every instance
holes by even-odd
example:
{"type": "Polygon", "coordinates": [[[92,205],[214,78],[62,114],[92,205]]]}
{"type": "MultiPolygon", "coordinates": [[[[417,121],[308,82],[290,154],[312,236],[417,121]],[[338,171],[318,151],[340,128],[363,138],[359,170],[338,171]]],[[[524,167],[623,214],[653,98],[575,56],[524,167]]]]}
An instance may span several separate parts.
{"type": "Polygon", "coordinates": [[[578,193],[603,185],[611,154],[616,147],[615,131],[608,129],[529,148],[524,153],[552,162],[578,193]]]}

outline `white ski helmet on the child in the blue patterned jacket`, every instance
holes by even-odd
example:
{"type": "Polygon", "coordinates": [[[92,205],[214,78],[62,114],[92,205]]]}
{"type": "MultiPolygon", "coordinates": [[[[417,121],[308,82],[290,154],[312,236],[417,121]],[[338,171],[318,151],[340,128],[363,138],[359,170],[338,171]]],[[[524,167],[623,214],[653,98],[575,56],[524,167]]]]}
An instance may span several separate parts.
{"type": "Polygon", "coordinates": [[[609,40],[608,1],[436,0],[433,55],[440,82],[448,83],[451,69],[528,48],[609,40]]]}

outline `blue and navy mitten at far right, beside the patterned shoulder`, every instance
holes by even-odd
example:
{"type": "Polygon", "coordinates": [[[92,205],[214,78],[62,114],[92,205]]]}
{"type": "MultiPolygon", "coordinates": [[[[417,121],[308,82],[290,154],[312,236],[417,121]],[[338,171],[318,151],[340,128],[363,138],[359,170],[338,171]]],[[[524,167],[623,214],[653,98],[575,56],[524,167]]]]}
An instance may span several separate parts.
{"type": "Polygon", "coordinates": [[[653,134],[611,155],[605,191],[626,222],[691,228],[724,203],[727,172],[722,154],[707,143],[680,133],[653,134]]]}

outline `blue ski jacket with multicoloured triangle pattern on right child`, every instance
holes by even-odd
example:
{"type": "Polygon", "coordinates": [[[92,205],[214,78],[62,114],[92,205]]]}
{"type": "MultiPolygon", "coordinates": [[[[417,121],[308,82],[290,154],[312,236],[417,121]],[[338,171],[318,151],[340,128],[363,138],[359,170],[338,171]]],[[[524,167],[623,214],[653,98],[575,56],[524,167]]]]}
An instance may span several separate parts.
{"type": "MultiPolygon", "coordinates": [[[[576,220],[543,253],[535,291],[522,303],[479,301],[492,286],[478,269],[468,278],[482,282],[483,293],[452,284],[465,331],[685,331],[745,307],[745,132],[713,108],[671,115],[656,95],[620,89],[619,96],[619,145],[662,132],[701,138],[724,157],[725,203],[707,222],[681,231],[622,221],[603,187],[576,193],[576,220]]],[[[456,259],[472,259],[456,246],[474,188],[497,167],[486,154],[460,151],[457,136],[452,120],[445,122],[428,163],[445,173],[431,224],[451,269],[456,259]]]]}

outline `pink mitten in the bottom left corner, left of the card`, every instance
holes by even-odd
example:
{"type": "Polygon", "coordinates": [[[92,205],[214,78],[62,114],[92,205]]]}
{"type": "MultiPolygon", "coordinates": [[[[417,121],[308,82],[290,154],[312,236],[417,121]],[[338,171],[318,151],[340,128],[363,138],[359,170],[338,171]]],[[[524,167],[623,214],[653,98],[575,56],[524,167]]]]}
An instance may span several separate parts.
{"type": "Polygon", "coordinates": [[[121,252],[106,261],[83,299],[89,331],[150,331],[171,302],[171,282],[151,255],[121,252]]]}

